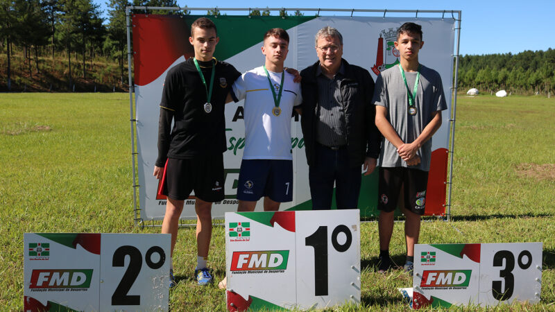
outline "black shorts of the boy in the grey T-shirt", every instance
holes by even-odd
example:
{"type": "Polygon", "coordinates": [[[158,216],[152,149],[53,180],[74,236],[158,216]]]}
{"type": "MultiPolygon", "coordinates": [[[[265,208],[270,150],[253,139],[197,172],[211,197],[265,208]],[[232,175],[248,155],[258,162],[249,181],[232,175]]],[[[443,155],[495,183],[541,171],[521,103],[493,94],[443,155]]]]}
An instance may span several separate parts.
{"type": "Polygon", "coordinates": [[[377,209],[391,212],[397,207],[403,189],[404,208],[424,214],[428,172],[412,168],[379,168],[377,209]]]}

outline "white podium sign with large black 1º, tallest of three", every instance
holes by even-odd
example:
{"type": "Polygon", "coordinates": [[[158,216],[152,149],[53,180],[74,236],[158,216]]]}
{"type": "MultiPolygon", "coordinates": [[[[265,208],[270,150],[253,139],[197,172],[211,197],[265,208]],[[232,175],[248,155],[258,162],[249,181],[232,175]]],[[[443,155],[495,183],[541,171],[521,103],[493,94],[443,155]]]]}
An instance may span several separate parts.
{"type": "Polygon", "coordinates": [[[360,302],[359,210],[228,212],[230,311],[360,302]]]}

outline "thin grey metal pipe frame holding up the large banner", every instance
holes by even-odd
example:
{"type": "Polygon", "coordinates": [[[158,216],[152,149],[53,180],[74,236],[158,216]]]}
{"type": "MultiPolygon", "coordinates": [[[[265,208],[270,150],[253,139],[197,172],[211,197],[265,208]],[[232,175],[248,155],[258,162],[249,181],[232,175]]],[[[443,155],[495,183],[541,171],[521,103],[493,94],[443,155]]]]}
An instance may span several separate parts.
{"type": "MultiPolygon", "coordinates": [[[[137,146],[135,142],[135,132],[137,130],[137,119],[135,119],[135,103],[133,103],[135,93],[135,85],[133,80],[133,75],[131,73],[132,69],[132,58],[134,52],[131,49],[131,31],[133,25],[130,24],[130,16],[135,10],[136,12],[148,12],[148,10],[173,10],[173,11],[202,11],[207,12],[208,10],[216,10],[220,13],[223,12],[244,12],[249,14],[252,10],[260,10],[261,12],[264,10],[269,11],[277,11],[277,12],[316,12],[316,17],[321,16],[350,16],[353,17],[355,12],[364,14],[364,16],[371,16],[371,17],[386,17],[386,15],[393,15],[394,17],[413,17],[415,20],[420,17],[436,17],[441,15],[441,19],[453,19],[456,21],[456,26],[454,31],[456,32],[455,36],[455,53],[452,55],[454,58],[454,79],[452,81],[452,85],[450,87],[452,92],[452,103],[451,105],[451,116],[450,116],[450,141],[447,153],[449,153],[449,171],[447,177],[447,201],[445,202],[445,215],[443,220],[451,220],[451,196],[452,196],[452,180],[453,180],[453,153],[454,153],[454,133],[455,133],[455,121],[456,121],[456,99],[457,94],[456,91],[458,89],[458,82],[459,82],[459,46],[461,40],[461,10],[374,10],[374,9],[345,9],[345,8],[180,8],[180,7],[146,7],[146,6],[128,6],[126,7],[126,28],[127,28],[127,54],[128,54],[128,84],[129,84],[129,110],[130,110],[130,138],[131,138],[131,170],[133,172],[133,220],[135,226],[160,226],[160,224],[155,223],[154,220],[148,222],[148,220],[144,220],[140,216],[140,208],[137,202],[137,188],[139,187],[139,182],[137,182],[137,146]],[[329,15],[321,15],[321,13],[330,12],[329,15]],[[333,15],[331,14],[333,12],[333,15]],[[422,16],[425,15],[425,16],[422,16]],[[148,224],[147,224],[148,222],[148,224]]],[[[203,14],[200,14],[203,15],[203,14]]],[[[237,14],[240,15],[240,14],[237,14]]],[[[214,18],[217,18],[214,17],[214,18]]],[[[285,17],[284,17],[285,18],[285,17]]],[[[180,219],[180,225],[185,225],[182,222],[183,220],[180,219]]]]}

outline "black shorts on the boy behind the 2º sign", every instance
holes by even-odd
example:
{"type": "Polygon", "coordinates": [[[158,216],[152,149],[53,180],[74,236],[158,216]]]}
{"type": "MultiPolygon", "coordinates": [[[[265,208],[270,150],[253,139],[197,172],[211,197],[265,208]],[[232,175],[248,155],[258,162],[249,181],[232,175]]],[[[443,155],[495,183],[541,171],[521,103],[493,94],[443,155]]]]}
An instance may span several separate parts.
{"type": "Polygon", "coordinates": [[[195,159],[168,158],[163,194],[173,200],[194,196],[205,202],[223,200],[223,154],[195,159]]]}

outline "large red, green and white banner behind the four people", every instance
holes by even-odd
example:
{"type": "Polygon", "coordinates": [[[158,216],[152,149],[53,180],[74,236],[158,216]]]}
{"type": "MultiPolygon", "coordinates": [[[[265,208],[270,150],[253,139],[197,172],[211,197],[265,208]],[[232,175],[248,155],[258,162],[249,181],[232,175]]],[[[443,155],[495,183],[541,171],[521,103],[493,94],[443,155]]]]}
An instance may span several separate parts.
{"type": "MultiPolygon", "coordinates": [[[[153,177],[157,158],[158,116],[166,73],[171,67],[194,56],[189,44],[190,25],[200,16],[133,15],[133,58],[135,61],[135,104],[137,119],[137,152],[139,207],[143,220],[161,220],[166,199],[157,196],[158,180],[153,177]]],[[[370,71],[374,80],[380,71],[399,62],[394,49],[395,32],[406,21],[422,25],[425,42],[419,60],[441,74],[447,103],[451,103],[453,80],[454,19],[409,17],[247,17],[213,18],[219,44],[214,57],[230,62],[244,72],[264,64],[260,50],[262,37],[269,28],[287,30],[290,37],[285,66],[304,69],[318,60],[314,35],[324,26],[337,28],[343,35],[343,58],[370,71]]],[[[426,214],[445,213],[445,181],[451,107],[443,111],[443,124],[432,142],[432,164],[429,172],[426,214]]],[[[237,211],[237,179],[245,144],[243,102],[225,107],[228,150],[224,153],[225,200],[212,206],[212,216],[223,218],[225,211],[237,211]]],[[[291,119],[293,148],[293,202],[281,210],[311,209],[308,166],[300,117],[291,119]]],[[[192,195],[192,194],[191,194],[192,195]]],[[[194,197],[185,201],[181,218],[196,218],[194,197]]],[[[335,201],[335,200],[334,200],[335,201]]],[[[363,177],[359,209],[361,217],[377,215],[377,171],[363,177]]],[[[257,211],[262,210],[262,201],[257,211]]]]}

